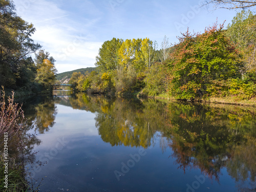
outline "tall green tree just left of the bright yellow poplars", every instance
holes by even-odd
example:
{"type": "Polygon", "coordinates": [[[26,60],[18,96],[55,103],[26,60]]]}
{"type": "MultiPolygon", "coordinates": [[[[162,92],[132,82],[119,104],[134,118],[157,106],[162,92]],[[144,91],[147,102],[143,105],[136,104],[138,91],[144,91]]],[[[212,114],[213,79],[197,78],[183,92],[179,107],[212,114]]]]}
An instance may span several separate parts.
{"type": "Polygon", "coordinates": [[[118,50],[122,42],[122,39],[116,38],[105,41],[99,49],[99,56],[96,56],[95,66],[99,66],[104,72],[116,70],[118,68],[118,50]]]}

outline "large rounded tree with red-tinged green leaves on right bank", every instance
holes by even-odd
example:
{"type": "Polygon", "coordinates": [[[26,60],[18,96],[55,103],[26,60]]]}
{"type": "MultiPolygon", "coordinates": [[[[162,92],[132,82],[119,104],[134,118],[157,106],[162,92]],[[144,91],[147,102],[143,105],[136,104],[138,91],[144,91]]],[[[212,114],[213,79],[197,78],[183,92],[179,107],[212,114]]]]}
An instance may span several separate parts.
{"type": "Polygon", "coordinates": [[[188,31],[168,61],[169,91],[177,99],[202,98],[212,80],[239,77],[240,55],[225,37],[223,26],[205,29],[203,34],[188,31]]]}

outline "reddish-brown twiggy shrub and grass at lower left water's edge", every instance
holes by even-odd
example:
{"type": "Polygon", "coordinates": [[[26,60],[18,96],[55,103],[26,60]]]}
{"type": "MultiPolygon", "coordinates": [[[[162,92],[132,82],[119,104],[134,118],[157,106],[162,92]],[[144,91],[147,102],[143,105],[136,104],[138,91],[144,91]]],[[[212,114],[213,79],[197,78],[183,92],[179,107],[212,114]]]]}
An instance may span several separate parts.
{"type": "MultiPolygon", "coordinates": [[[[0,94],[1,95],[1,94],[0,94]]],[[[1,95],[0,99],[0,146],[4,143],[4,134],[7,133],[8,143],[10,141],[20,147],[20,135],[24,130],[24,111],[22,107],[17,103],[14,103],[14,92],[12,96],[8,97],[8,102],[5,101],[5,92],[1,95]]],[[[9,145],[10,146],[10,145],[9,145]]],[[[8,147],[9,147],[8,146],[8,147]]],[[[16,147],[17,147],[16,146],[16,147]]],[[[24,178],[24,166],[20,163],[15,162],[15,158],[8,158],[8,189],[5,188],[4,182],[0,184],[1,191],[22,191],[28,187],[24,178]]],[[[4,181],[5,165],[4,156],[0,154],[0,178],[4,181]]]]}

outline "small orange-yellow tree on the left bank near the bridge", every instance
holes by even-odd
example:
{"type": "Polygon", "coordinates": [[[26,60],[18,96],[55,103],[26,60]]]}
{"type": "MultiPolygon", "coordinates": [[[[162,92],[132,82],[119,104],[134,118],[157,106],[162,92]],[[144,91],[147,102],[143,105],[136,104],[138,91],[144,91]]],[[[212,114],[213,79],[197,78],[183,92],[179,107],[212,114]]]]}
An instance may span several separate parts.
{"type": "Polygon", "coordinates": [[[44,89],[51,90],[55,84],[55,74],[57,70],[49,59],[44,59],[42,64],[37,68],[36,81],[41,84],[44,89]]]}

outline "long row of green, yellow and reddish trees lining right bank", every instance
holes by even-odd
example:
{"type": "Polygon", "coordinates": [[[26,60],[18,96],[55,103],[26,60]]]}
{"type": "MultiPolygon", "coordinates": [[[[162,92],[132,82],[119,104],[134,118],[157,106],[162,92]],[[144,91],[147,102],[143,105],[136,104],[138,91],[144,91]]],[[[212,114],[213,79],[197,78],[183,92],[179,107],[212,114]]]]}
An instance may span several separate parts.
{"type": "Polygon", "coordinates": [[[148,38],[113,38],[96,57],[101,72],[74,73],[70,83],[91,93],[249,99],[256,94],[255,19],[243,10],[227,29],[216,23],[202,34],[187,31],[174,46],[165,37],[159,51],[148,38]]]}

